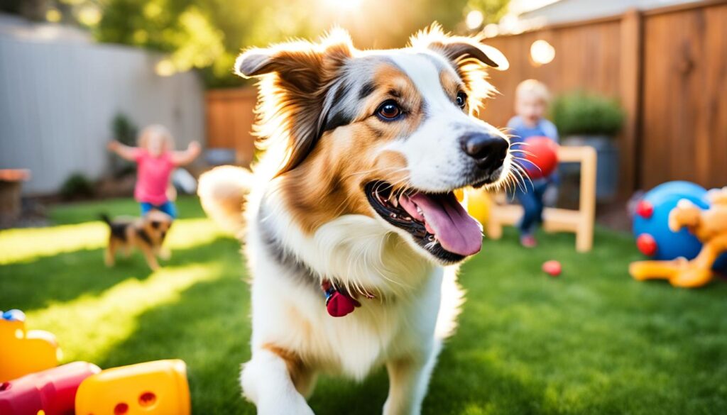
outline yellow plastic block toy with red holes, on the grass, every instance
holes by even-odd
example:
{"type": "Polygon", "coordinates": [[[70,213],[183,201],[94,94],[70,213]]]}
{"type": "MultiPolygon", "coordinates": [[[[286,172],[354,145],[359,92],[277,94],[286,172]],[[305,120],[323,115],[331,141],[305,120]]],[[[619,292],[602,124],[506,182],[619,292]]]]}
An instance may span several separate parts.
{"type": "Polygon", "coordinates": [[[189,415],[187,366],[156,360],[88,377],[76,393],[76,415],[189,415]]]}

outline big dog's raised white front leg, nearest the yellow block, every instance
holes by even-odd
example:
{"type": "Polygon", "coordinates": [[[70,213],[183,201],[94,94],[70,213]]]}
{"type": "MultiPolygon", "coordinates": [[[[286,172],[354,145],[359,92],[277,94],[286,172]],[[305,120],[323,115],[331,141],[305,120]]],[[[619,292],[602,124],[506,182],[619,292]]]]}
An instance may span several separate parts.
{"type": "Polygon", "coordinates": [[[240,376],[243,394],[259,415],[313,415],[292,379],[297,363],[285,357],[265,348],[254,350],[240,376]]]}

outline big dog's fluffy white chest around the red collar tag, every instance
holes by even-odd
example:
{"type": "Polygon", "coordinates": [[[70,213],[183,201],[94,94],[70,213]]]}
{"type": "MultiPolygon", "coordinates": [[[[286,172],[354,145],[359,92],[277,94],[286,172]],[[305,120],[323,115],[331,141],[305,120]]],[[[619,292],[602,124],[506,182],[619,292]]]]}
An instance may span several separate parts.
{"type": "Polygon", "coordinates": [[[369,217],[340,217],[306,237],[284,211],[268,206],[251,218],[246,247],[254,274],[254,346],[293,350],[311,365],[356,379],[385,360],[431,347],[443,268],[369,217]],[[359,297],[360,308],[333,318],[321,278],[376,297],[359,297]]]}

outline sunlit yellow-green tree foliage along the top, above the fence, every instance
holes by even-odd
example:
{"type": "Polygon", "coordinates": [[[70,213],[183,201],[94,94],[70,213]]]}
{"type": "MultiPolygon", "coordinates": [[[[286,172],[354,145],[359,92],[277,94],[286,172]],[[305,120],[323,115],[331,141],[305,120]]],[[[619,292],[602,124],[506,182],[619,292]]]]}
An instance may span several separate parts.
{"type": "Polygon", "coordinates": [[[212,87],[243,82],[232,66],[247,47],[314,39],[334,25],[347,29],[359,48],[401,47],[434,21],[450,31],[466,30],[462,21],[471,9],[480,9],[486,23],[496,21],[507,1],[28,0],[45,2],[63,21],[88,27],[98,41],[166,52],[161,72],[198,68],[212,87]]]}

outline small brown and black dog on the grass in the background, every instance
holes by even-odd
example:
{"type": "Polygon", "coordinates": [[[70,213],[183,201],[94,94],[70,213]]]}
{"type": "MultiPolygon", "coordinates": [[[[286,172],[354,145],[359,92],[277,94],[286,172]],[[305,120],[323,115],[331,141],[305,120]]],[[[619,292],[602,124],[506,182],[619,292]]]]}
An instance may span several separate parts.
{"type": "Polygon", "coordinates": [[[166,238],[166,233],[169,232],[169,227],[172,227],[172,222],[174,222],[168,214],[151,210],[140,218],[111,219],[107,214],[102,214],[101,219],[111,230],[108,235],[108,246],[104,253],[107,267],[112,267],[116,262],[116,251],[123,249],[124,254],[128,257],[134,247],[144,254],[146,263],[151,270],[159,269],[156,257],[169,259],[169,251],[161,246],[166,238]]]}

